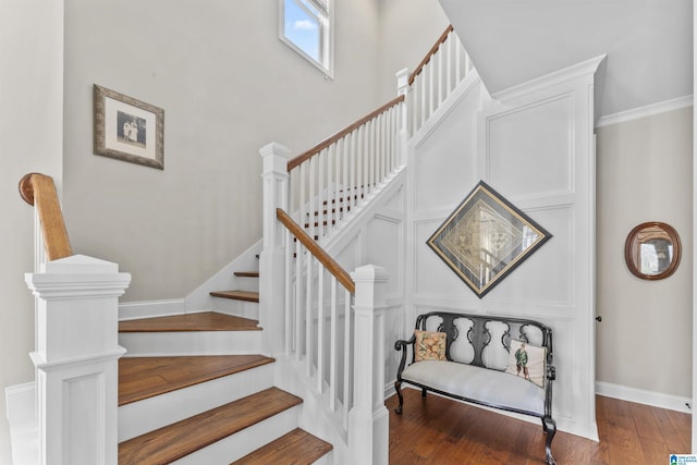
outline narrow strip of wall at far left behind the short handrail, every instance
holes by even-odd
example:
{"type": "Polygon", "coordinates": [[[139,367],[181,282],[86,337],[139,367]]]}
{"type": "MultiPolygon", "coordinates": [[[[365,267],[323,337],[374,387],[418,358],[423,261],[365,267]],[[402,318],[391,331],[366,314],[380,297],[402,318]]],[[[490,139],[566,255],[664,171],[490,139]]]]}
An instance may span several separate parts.
{"type": "Polygon", "coordinates": [[[0,1],[0,463],[10,463],[4,388],[34,379],[33,209],[20,179],[42,172],[61,185],[63,2],[0,1]]]}

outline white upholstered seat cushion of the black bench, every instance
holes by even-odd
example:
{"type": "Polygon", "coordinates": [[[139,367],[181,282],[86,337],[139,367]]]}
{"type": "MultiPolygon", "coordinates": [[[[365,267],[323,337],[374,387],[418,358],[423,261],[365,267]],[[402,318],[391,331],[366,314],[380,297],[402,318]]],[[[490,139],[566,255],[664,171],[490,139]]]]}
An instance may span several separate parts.
{"type": "Polygon", "coordinates": [[[402,380],[499,408],[545,416],[545,389],[503,371],[456,362],[424,360],[406,367],[402,380]]]}

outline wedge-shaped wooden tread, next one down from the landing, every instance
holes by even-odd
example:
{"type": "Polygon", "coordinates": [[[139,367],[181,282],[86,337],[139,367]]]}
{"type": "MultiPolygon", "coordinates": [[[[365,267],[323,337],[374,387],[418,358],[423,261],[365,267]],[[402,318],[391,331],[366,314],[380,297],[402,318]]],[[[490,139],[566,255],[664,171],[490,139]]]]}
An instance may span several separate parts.
{"type": "Polygon", "coordinates": [[[262,355],[122,357],[119,405],[142,401],[274,362],[262,355]]]}

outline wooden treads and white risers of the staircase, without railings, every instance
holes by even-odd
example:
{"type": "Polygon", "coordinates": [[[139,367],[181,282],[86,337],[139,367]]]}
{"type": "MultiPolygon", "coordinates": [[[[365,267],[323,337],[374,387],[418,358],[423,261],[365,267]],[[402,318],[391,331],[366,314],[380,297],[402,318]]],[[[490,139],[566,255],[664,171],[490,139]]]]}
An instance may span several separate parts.
{"type": "MultiPolygon", "coordinates": [[[[210,295],[259,302],[258,291],[210,295]]],[[[215,311],[121,321],[119,464],[330,463],[332,445],[298,428],[303,400],[273,386],[261,331],[215,311]]]]}

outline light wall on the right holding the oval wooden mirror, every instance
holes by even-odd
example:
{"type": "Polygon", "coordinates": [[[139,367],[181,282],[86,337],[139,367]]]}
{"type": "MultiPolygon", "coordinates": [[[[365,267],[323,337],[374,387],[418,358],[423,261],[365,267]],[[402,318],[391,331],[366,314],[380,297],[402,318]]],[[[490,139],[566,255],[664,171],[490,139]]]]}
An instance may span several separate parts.
{"type": "Polygon", "coordinates": [[[599,127],[598,381],[692,397],[693,108],[599,127]],[[634,277],[624,243],[662,221],[683,245],[675,273],[634,277]]]}

